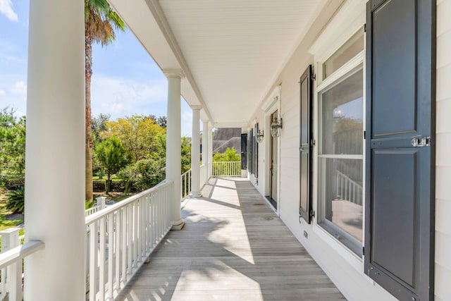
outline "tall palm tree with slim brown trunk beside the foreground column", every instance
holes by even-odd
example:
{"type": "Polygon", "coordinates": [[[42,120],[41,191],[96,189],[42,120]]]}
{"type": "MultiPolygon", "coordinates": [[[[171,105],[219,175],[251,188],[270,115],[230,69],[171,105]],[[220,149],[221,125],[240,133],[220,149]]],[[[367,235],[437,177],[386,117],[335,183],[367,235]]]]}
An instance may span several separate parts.
{"type": "Polygon", "coordinates": [[[115,39],[114,30],[125,30],[125,23],[106,0],[85,0],[85,97],[86,97],[86,199],[92,201],[91,77],[92,43],[105,46],[115,39]]]}

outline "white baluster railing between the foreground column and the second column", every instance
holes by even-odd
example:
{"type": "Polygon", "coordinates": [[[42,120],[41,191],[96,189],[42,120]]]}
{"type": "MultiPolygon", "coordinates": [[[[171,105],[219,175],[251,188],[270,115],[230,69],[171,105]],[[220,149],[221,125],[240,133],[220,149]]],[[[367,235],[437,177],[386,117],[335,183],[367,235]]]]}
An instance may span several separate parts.
{"type": "Polygon", "coordinates": [[[86,216],[89,300],[113,300],[171,229],[171,189],[154,188],[86,216]]]}

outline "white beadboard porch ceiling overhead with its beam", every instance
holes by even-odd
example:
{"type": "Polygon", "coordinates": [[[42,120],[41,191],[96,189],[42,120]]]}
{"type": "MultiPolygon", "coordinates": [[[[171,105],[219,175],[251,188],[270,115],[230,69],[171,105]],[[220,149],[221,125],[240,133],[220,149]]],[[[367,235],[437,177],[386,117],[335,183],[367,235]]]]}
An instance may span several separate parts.
{"type": "Polygon", "coordinates": [[[216,126],[245,124],[326,0],[111,0],[182,94],[216,126]],[[127,2],[125,4],[125,2],[127,2]]]}

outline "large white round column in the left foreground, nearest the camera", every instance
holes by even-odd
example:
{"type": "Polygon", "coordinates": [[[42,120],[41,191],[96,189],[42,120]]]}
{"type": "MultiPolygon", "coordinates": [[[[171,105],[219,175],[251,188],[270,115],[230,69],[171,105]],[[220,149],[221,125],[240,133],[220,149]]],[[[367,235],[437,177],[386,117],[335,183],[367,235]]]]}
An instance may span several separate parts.
{"type": "Polygon", "coordinates": [[[25,300],[85,300],[85,8],[30,1],[25,300]]]}

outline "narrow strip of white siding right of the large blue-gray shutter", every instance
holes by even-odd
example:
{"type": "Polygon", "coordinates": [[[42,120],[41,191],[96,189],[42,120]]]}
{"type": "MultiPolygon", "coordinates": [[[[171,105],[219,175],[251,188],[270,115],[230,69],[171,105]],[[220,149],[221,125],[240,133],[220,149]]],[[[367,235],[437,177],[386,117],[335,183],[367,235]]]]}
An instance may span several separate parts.
{"type": "Polygon", "coordinates": [[[435,300],[451,296],[451,0],[437,1],[435,300]]]}

